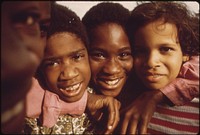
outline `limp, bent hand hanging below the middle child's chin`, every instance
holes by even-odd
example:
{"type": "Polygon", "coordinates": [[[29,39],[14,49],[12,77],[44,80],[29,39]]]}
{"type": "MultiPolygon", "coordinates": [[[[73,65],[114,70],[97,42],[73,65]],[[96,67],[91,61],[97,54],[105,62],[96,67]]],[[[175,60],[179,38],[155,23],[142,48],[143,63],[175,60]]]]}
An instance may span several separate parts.
{"type": "Polygon", "coordinates": [[[91,116],[98,121],[98,123],[102,122],[103,126],[105,122],[107,122],[105,130],[101,130],[104,134],[110,134],[116,128],[119,122],[120,106],[120,102],[113,97],[88,94],[87,109],[91,116]]]}

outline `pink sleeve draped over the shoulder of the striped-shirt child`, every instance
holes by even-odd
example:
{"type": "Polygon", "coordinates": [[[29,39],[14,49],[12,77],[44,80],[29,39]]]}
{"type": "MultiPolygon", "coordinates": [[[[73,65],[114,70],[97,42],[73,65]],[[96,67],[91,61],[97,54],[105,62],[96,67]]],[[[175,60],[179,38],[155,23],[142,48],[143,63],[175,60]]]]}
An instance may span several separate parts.
{"type": "Polygon", "coordinates": [[[161,91],[178,106],[199,97],[199,56],[192,56],[184,63],[178,77],[161,91]]]}

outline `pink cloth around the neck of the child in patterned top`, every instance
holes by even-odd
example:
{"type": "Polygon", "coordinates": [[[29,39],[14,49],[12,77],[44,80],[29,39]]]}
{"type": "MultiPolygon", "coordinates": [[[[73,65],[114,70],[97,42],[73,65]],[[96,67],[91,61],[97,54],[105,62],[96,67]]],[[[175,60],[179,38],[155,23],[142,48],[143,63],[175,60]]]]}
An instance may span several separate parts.
{"type": "Polygon", "coordinates": [[[87,90],[80,100],[67,103],[61,100],[57,94],[43,90],[38,81],[33,79],[33,86],[26,101],[26,116],[31,118],[42,116],[42,125],[52,127],[56,124],[60,115],[80,116],[84,113],[87,104],[87,90]]]}

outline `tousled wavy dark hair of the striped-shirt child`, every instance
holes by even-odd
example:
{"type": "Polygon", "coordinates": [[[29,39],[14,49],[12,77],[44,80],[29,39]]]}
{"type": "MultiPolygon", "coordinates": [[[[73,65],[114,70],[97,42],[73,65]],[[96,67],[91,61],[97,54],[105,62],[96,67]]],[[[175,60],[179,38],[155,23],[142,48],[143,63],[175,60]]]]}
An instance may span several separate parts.
{"type": "Polygon", "coordinates": [[[135,32],[160,18],[176,25],[184,55],[199,55],[199,14],[191,12],[186,4],[181,2],[142,3],[133,9],[128,22],[128,35],[132,46],[135,32]]]}

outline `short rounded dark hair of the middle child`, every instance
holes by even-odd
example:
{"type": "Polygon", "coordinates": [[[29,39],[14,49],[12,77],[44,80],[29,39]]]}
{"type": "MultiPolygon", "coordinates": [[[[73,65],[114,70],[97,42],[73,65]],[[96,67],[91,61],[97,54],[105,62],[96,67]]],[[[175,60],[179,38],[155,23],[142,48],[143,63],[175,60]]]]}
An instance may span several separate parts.
{"type": "Polygon", "coordinates": [[[102,2],[93,6],[83,16],[82,22],[86,26],[88,38],[92,40],[92,30],[105,23],[116,23],[125,30],[130,17],[130,11],[119,3],[102,2]]]}

